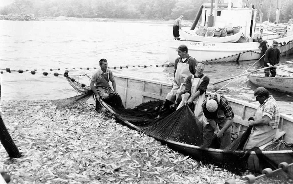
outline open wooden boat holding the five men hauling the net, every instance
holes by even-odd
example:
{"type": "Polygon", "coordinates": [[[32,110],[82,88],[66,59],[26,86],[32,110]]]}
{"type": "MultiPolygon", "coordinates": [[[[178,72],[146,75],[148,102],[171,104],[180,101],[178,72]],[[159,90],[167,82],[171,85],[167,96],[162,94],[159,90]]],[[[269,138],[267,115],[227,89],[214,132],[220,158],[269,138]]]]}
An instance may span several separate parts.
{"type": "MultiPolygon", "coordinates": [[[[136,105],[147,102],[149,100],[165,100],[167,93],[172,88],[172,84],[169,83],[139,79],[136,77],[122,76],[118,74],[115,75],[115,81],[117,85],[117,92],[120,94],[125,108],[134,108],[136,105]]],[[[242,130],[246,130],[248,127],[247,119],[253,116],[257,105],[235,98],[228,99],[234,112],[233,132],[236,133],[242,130]]],[[[125,118],[121,118],[121,116],[117,115],[115,110],[108,104],[104,103],[102,100],[100,100],[100,102],[109,112],[119,118],[123,124],[138,131],[142,130],[141,127],[136,126],[127,121],[125,118]]],[[[293,117],[281,113],[280,124],[275,138],[287,141],[288,143],[293,143],[293,133],[290,131],[292,126],[293,117]]],[[[161,142],[167,144],[174,150],[178,150],[186,155],[192,156],[196,160],[202,160],[204,158],[205,161],[216,165],[228,164],[228,160],[232,159],[232,157],[237,157],[241,154],[248,154],[246,152],[243,153],[243,151],[225,152],[224,150],[212,148],[202,150],[199,146],[180,143],[174,140],[161,140],[161,142]]],[[[269,149],[272,144],[275,143],[270,142],[260,147],[263,150],[263,155],[277,164],[281,162],[292,163],[292,149],[286,150],[283,149],[282,146],[274,146],[274,149],[269,149]]],[[[246,169],[257,172],[261,172],[262,169],[264,169],[261,168],[260,161],[254,151],[251,151],[247,156],[248,157],[245,166],[246,169]]]]}

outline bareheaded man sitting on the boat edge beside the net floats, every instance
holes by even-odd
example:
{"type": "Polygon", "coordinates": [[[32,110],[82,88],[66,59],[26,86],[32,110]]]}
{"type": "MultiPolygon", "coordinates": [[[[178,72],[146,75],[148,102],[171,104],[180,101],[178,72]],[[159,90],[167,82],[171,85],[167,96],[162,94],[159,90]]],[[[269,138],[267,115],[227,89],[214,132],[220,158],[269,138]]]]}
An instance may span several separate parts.
{"type": "Polygon", "coordinates": [[[114,75],[110,69],[108,69],[108,62],[106,59],[100,59],[100,69],[93,73],[91,77],[91,90],[96,95],[97,103],[99,99],[105,100],[109,105],[122,106],[120,96],[116,91],[116,82],[114,75]],[[112,86],[109,85],[109,81],[112,82],[112,86]],[[96,84],[96,86],[95,86],[96,84]]]}

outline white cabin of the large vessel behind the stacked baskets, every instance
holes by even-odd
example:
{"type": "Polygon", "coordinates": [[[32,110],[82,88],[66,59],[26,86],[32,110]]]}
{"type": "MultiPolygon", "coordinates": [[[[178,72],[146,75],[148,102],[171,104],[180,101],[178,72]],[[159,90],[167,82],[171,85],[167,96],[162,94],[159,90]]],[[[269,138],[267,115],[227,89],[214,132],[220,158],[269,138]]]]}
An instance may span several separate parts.
{"type": "MultiPolygon", "coordinates": [[[[246,37],[253,38],[257,9],[247,7],[243,0],[217,0],[213,3],[202,4],[201,26],[205,27],[242,27],[246,37]],[[212,18],[211,17],[212,13],[212,18]],[[209,21],[213,21],[212,24],[209,21]],[[212,26],[210,26],[212,25],[212,26]]],[[[201,11],[201,10],[199,10],[201,11]]]]}

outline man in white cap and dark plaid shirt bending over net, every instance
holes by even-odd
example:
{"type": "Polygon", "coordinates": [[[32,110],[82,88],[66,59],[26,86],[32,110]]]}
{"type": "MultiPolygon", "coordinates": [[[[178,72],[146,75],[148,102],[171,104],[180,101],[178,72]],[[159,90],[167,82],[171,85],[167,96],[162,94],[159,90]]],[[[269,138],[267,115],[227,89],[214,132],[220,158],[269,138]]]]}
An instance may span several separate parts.
{"type": "Polygon", "coordinates": [[[231,125],[234,113],[224,95],[213,94],[202,103],[203,111],[203,142],[207,143],[215,134],[220,138],[220,149],[231,144],[231,125]]]}

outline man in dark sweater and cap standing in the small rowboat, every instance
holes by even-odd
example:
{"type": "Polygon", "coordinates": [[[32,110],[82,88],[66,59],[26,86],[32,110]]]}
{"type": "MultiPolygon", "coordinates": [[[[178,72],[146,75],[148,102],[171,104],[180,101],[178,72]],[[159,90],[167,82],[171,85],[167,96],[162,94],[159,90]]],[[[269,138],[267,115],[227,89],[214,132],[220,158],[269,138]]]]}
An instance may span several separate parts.
{"type": "Polygon", "coordinates": [[[280,62],[280,50],[277,48],[277,46],[278,42],[274,40],[272,47],[268,48],[267,51],[265,51],[264,67],[270,67],[268,69],[265,69],[265,77],[275,77],[277,74],[276,68],[280,62]]]}

